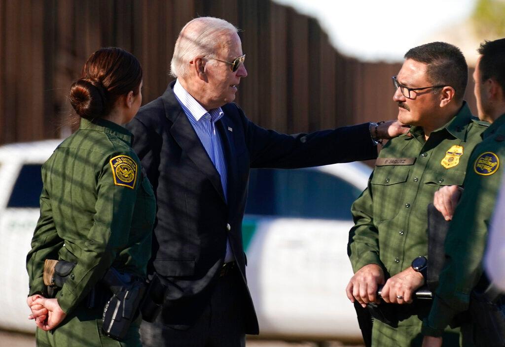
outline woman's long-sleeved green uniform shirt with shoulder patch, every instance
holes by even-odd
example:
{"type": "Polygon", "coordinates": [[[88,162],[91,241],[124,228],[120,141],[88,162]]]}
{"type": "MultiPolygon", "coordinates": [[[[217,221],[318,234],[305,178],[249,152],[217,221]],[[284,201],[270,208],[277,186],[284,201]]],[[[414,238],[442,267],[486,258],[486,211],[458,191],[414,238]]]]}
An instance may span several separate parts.
{"type": "Polygon", "coordinates": [[[146,275],[156,202],[131,137],[115,123],[82,119],[42,166],[40,218],[27,256],[30,295],[45,292],[45,259],[76,262],[57,295],[67,314],[111,266],[146,275]]]}

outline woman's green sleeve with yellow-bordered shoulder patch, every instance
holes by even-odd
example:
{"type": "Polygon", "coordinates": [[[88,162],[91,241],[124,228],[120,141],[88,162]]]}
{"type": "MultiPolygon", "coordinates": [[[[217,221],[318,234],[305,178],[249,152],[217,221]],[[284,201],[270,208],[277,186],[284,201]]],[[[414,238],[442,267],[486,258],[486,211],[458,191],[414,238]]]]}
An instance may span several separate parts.
{"type": "Polygon", "coordinates": [[[130,225],[141,184],[140,165],[131,153],[108,158],[96,172],[96,204],[93,225],[72,275],[58,293],[65,313],[72,311],[104,276],[118,252],[128,243],[130,225]]]}

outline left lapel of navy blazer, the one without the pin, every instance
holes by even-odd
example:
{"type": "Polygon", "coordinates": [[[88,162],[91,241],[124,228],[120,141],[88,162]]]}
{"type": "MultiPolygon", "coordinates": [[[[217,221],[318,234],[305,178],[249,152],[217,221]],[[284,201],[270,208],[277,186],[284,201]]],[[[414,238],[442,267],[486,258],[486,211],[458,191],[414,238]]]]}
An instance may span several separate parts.
{"type": "Polygon", "coordinates": [[[221,196],[221,199],[226,202],[219,172],[216,170],[216,167],[212,163],[211,158],[209,158],[207,151],[201,144],[193,126],[189,123],[187,115],[184,113],[179,101],[177,101],[177,98],[172,90],[174,84],[175,82],[170,83],[167,91],[163,94],[165,113],[167,118],[172,122],[170,134],[175,141],[177,141],[182,150],[187,153],[188,157],[194,162],[196,167],[204,172],[221,196]]]}

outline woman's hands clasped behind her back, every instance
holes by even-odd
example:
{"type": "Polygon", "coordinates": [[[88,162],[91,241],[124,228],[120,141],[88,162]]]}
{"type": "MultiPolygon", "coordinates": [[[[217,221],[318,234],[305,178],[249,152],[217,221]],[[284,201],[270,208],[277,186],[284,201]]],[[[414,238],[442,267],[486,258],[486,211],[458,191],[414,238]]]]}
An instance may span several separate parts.
{"type": "Polygon", "coordinates": [[[35,325],[44,331],[56,328],[67,316],[56,299],[36,294],[28,297],[26,303],[32,312],[28,319],[34,319],[35,325]]]}

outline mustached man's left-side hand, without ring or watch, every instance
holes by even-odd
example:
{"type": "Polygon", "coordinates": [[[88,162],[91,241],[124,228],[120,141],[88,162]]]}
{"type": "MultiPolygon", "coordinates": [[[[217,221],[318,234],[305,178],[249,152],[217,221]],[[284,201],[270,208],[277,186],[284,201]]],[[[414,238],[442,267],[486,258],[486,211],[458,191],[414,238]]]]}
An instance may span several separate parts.
{"type": "Polygon", "coordinates": [[[358,300],[361,306],[377,302],[377,286],[384,283],[384,271],[377,264],[368,264],[356,271],[347,284],[347,298],[354,303],[358,300]]]}

